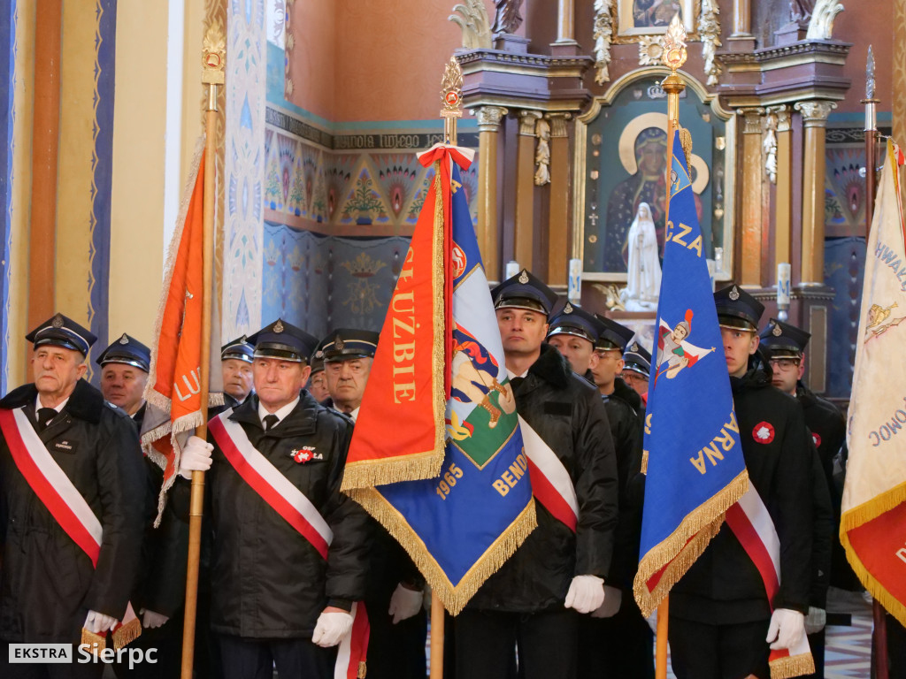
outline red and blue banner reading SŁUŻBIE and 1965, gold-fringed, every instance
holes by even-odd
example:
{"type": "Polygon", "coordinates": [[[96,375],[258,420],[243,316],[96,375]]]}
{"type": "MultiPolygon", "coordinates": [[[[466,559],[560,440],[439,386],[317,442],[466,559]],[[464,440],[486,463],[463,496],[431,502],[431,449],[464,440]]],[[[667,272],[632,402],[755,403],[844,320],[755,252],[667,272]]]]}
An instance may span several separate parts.
{"type": "MultiPolygon", "coordinates": [[[[448,376],[450,397],[446,412],[441,410],[440,415],[446,420],[446,432],[441,430],[439,440],[442,466],[436,478],[347,492],[409,551],[433,591],[455,615],[534,530],[535,502],[494,305],[460,184],[459,167],[468,167],[471,154],[466,149],[435,147],[420,159],[425,165],[433,162],[436,172],[433,195],[425,202],[422,218],[426,210],[433,211],[441,201],[449,206],[436,223],[446,219],[452,226],[451,254],[446,265],[441,262],[434,270],[422,268],[409,277],[420,275],[436,280],[439,273],[447,270],[452,283],[452,319],[448,326],[451,355],[446,365],[438,365],[432,384],[426,383],[425,390],[419,391],[422,403],[407,400],[408,409],[395,409],[387,420],[379,421],[375,415],[388,412],[387,401],[393,400],[398,387],[391,371],[376,375],[372,368],[352,437],[351,455],[354,451],[361,459],[366,445],[376,454],[393,454],[400,442],[423,435],[419,432],[419,427],[425,427],[421,409],[437,398],[444,405],[443,385],[448,376]],[[443,445],[445,434],[447,441],[443,445]]],[[[410,252],[407,262],[412,256],[410,252]]],[[[400,273],[405,287],[398,284],[390,301],[375,366],[381,357],[411,355],[407,349],[400,349],[400,342],[411,340],[399,330],[401,321],[396,314],[406,308],[402,301],[412,299],[413,287],[426,282],[402,281],[406,271],[404,267],[400,273]],[[406,296],[404,300],[397,299],[400,295],[406,296]]],[[[440,291],[437,295],[442,296],[440,291]]],[[[415,311],[419,311],[418,307],[415,311]]],[[[405,322],[416,327],[419,322],[423,327],[430,322],[419,318],[425,319],[420,316],[405,322]]],[[[438,332],[443,333],[443,328],[438,332]]],[[[346,475],[344,487],[350,485],[348,468],[346,475]]],[[[551,487],[555,491],[556,484],[551,487]]],[[[564,511],[564,521],[569,521],[568,511],[564,511]]]]}

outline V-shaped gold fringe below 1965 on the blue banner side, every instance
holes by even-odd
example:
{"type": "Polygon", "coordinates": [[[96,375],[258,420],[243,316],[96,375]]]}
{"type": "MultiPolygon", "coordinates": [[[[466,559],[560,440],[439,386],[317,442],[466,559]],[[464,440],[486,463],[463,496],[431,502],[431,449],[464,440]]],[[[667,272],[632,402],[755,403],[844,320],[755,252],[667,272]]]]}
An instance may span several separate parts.
{"type": "Polygon", "coordinates": [[[431,590],[438,595],[440,602],[452,616],[458,615],[466,607],[468,600],[475,596],[485,580],[494,575],[504,565],[506,559],[513,556],[513,553],[537,526],[535,498],[532,498],[506,528],[506,531],[495,540],[480,559],[477,559],[472,568],[468,569],[459,584],[453,585],[438,562],[429,554],[425,543],[412,531],[400,512],[394,509],[381,493],[373,488],[359,488],[348,494],[355,502],[361,504],[374,519],[379,521],[409,553],[412,561],[425,576],[431,590]]]}

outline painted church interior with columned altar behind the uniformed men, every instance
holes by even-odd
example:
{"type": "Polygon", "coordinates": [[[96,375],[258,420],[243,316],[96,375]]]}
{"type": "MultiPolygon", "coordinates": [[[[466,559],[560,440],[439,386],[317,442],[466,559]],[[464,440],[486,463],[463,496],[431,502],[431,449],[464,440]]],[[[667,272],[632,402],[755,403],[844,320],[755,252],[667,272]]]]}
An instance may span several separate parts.
{"type": "MultiPolygon", "coordinates": [[[[865,100],[906,139],[906,8],[824,0],[13,0],[0,390],[22,337],[62,311],[149,341],[203,133],[203,36],[221,27],[221,336],[282,317],[323,336],[380,330],[442,138],[440,78],[464,74],[458,144],[489,281],[516,262],[583,307],[651,331],[625,300],[641,203],[663,244],[661,39],[679,13],[679,121],[716,284],[812,333],[806,380],[845,402],[865,255],[865,100]],[[845,5],[845,6],[843,6],[845,5]],[[870,56],[871,51],[871,56],[870,56]],[[866,90],[866,87],[870,90],[866,90]],[[571,265],[571,261],[573,264],[571,265]],[[571,269],[572,266],[572,269],[571,269]]],[[[878,151],[877,158],[883,154],[878,151]]],[[[879,164],[881,161],[877,161],[879,164]]],[[[93,365],[93,361],[90,362],[93,365]]],[[[89,376],[97,379],[96,370],[89,376]]]]}

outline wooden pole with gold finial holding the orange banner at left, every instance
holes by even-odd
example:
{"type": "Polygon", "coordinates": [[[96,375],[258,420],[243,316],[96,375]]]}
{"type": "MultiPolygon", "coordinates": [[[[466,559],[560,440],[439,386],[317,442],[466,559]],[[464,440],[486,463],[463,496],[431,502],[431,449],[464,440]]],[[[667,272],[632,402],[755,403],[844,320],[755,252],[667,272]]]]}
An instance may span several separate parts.
{"type": "MultiPolygon", "coordinates": [[[[195,435],[207,439],[207,399],[210,385],[211,310],[214,277],[214,201],[217,196],[217,85],[224,83],[226,41],[219,24],[212,24],[203,43],[201,81],[207,84],[205,115],[205,193],[202,208],[203,299],[201,315],[201,419],[195,435]]],[[[205,505],[205,473],[192,473],[192,495],[188,523],[188,568],[186,571],[186,607],[182,630],[182,679],[192,678],[195,660],[195,623],[198,613],[198,562],[201,556],[201,520],[205,505]]]]}

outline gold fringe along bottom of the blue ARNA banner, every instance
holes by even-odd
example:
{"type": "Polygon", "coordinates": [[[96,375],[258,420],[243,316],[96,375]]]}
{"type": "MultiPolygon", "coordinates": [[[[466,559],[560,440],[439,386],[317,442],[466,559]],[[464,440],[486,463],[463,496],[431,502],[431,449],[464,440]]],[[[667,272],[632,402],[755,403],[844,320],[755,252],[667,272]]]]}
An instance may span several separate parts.
{"type": "Polygon", "coordinates": [[[643,617],[651,616],[661,600],[667,596],[686,571],[698,559],[708,542],[718,534],[724,522],[724,514],[736,504],[747,491],[748,472],[744,469],[735,479],[728,483],[708,502],[703,502],[693,512],[689,512],[679,523],[676,531],[651,549],[639,562],[639,572],[635,576],[632,591],[643,617]],[[669,564],[651,591],[648,580],[669,564]]]}

